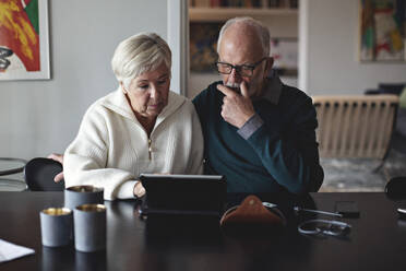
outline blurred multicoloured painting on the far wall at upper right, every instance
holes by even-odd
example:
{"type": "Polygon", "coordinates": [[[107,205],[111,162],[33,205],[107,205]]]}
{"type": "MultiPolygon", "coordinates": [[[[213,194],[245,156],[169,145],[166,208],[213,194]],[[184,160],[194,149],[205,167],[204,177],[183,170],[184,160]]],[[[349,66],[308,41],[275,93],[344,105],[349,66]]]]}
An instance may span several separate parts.
{"type": "Polygon", "coordinates": [[[405,0],[360,0],[360,60],[405,61],[405,0]]]}

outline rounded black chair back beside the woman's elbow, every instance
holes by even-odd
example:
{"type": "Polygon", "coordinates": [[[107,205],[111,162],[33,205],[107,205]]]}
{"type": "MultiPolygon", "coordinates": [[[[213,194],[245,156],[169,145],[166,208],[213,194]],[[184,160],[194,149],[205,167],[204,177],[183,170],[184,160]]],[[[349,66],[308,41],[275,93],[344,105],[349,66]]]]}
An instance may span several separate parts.
{"type": "Polygon", "coordinates": [[[25,165],[24,178],[32,191],[63,191],[64,181],[53,181],[53,177],[60,172],[62,172],[61,163],[37,157],[28,161],[25,165]]]}

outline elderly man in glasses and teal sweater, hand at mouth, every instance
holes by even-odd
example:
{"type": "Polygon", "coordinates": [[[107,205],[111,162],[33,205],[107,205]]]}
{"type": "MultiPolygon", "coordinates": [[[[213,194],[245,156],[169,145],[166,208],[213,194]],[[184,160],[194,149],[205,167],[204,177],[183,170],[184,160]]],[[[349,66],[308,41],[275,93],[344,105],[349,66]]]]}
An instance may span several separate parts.
{"type": "Polygon", "coordinates": [[[324,174],[315,110],[309,96],[273,73],[267,28],[250,17],[231,19],[217,52],[223,81],[193,99],[205,173],[225,175],[228,192],[318,191],[324,174]]]}

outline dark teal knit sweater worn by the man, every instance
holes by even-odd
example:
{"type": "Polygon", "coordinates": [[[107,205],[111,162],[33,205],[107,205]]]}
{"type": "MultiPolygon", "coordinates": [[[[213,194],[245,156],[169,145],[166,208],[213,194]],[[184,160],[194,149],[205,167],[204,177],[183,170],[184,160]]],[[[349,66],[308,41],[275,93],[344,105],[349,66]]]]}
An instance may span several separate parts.
{"type": "Polygon", "coordinates": [[[205,173],[225,175],[228,192],[319,190],[323,169],[311,98],[282,85],[277,104],[255,99],[255,117],[263,123],[244,139],[220,116],[224,94],[216,89],[219,83],[211,84],[193,99],[204,136],[205,173]]]}

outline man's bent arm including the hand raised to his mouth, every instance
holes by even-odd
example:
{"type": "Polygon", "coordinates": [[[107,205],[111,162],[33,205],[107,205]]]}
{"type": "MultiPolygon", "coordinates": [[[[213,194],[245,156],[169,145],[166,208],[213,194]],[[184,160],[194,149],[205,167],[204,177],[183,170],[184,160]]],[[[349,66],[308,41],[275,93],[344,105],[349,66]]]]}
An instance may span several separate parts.
{"type": "Polygon", "coordinates": [[[314,131],[318,122],[311,99],[300,98],[301,104],[291,105],[295,115],[289,129],[279,133],[253,111],[243,83],[242,95],[223,85],[217,90],[225,94],[222,117],[239,129],[239,134],[253,148],[274,179],[294,193],[318,191],[324,174],[319,164],[314,131]]]}

